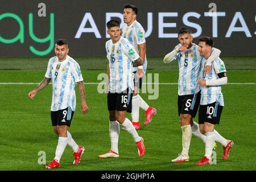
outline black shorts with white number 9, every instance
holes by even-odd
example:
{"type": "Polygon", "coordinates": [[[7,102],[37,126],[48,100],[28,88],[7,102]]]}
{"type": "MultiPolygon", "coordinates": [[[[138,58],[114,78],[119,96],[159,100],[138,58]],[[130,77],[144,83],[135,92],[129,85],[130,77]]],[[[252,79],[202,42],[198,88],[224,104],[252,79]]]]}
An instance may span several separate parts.
{"type": "Polygon", "coordinates": [[[71,107],[57,111],[51,111],[52,126],[67,125],[70,127],[74,113],[75,111],[72,111],[71,107]]]}

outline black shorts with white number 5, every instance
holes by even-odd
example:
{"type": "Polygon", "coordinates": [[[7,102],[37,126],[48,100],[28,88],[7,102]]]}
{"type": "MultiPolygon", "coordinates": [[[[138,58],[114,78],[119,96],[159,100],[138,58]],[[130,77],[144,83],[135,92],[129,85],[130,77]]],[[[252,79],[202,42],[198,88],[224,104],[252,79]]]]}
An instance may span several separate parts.
{"type": "Polygon", "coordinates": [[[178,96],[178,114],[190,114],[196,117],[197,109],[200,105],[201,90],[195,94],[178,96]]]}

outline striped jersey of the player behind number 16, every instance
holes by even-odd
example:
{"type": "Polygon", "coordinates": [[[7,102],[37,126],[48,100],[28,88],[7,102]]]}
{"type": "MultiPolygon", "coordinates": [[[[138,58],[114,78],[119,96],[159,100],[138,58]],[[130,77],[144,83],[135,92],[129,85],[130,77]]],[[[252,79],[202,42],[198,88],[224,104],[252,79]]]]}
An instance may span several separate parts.
{"type": "MultiPolygon", "coordinates": [[[[139,53],[138,44],[146,43],[145,39],[145,31],[141,26],[141,23],[135,20],[129,27],[126,23],[122,27],[122,37],[129,40],[129,42],[133,45],[135,51],[139,53]]],[[[134,67],[133,71],[137,71],[138,67],[134,67]]],[[[143,64],[143,72],[146,73],[147,70],[147,57],[145,55],[144,64],[143,64]]]]}

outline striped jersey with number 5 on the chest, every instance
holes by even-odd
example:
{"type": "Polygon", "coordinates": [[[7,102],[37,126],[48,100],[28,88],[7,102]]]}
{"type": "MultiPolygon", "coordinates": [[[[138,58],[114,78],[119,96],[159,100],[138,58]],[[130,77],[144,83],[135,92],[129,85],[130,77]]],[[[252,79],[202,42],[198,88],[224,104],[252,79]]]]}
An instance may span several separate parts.
{"type": "MultiPolygon", "coordinates": [[[[177,44],[174,49],[180,46],[181,44],[177,44]]],[[[201,56],[197,48],[198,46],[193,43],[193,46],[187,52],[178,52],[175,56],[175,59],[179,61],[179,96],[195,94],[200,90],[197,80],[199,77],[201,56]]]]}

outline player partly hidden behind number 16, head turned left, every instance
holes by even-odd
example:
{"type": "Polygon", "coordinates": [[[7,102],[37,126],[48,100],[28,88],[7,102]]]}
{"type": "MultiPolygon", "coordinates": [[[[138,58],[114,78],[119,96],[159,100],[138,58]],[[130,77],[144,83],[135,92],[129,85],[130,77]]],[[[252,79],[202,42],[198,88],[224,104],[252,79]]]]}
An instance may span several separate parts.
{"type": "Polygon", "coordinates": [[[133,119],[135,129],[139,130],[141,129],[139,123],[139,107],[146,111],[146,121],[144,122],[144,126],[148,125],[152,117],[156,114],[156,109],[148,106],[138,94],[138,89],[141,89],[142,87],[143,75],[146,74],[147,58],[145,31],[141,24],[136,20],[137,13],[138,9],[134,5],[127,4],[123,6],[123,22],[125,22],[125,25],[122,28],[122,37],[129,40],[133,45],[135,52],[137,52],[143,60],[143,66],[133,67],[135,89],[133,92],[131,118],[133,119]]]}

